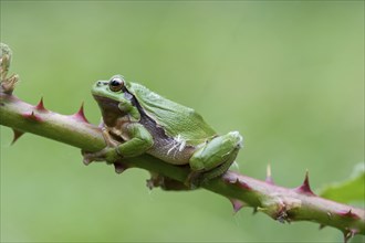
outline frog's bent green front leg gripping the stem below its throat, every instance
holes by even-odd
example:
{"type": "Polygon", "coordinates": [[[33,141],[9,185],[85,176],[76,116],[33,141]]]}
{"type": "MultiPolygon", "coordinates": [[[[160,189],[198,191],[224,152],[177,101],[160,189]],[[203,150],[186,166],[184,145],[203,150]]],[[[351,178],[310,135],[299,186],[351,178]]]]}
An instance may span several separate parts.
{"type": "Polygon", "coordinates": [[[109,134],[105,134],[105,129],[103,129],[103,136],[107,146],[101,151],[84,154],[84,162],[86,165],[91,161],[114,163],[124,157],[135,157],[144,154],[154,144],[149,131],[138,123],[126,123],[123,125],[122,130],[128,139],[122,144],[115,144],[109,134]]]}

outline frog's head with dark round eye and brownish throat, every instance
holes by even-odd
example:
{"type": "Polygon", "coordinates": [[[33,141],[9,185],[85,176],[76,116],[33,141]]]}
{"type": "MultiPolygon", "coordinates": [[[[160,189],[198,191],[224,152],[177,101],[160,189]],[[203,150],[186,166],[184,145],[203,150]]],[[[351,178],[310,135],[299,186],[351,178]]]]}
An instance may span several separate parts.
{"type": "Polygon", "coordinates": [[[108,126],[113,126],[118,117],[125,115],[118,108],[119,103],[131,96],[125,84],[123,76],[115,75],[109,81],[97,81],[92,87],[92,94],[102,110],[104,123],[108,126]]]}

